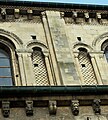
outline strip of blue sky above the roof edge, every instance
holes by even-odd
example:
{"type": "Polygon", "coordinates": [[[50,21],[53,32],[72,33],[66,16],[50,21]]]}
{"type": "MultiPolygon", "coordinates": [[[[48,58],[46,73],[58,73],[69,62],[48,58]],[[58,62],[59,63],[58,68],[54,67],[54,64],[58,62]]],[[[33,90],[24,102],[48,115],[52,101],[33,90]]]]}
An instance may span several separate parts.
{"type": "MultiPolygon", "coordinates": [[[[22,0],[19,0],[22,1],[22,0]]],[[[80,3],[80,4],[96,4],[108,5],[108,0],[23,0],[23,1],[39,1],[39,2],[60,2],[60,3],[80,3]]]]}

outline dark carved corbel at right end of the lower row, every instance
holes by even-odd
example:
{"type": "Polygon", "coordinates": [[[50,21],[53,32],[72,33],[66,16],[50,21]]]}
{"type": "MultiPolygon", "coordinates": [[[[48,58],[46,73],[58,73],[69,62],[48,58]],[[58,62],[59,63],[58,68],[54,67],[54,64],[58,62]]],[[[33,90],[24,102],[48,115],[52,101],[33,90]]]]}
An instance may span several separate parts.
{"type": "Polygon", "coordinates": [[[93,100],[92,107],[95,114],[101,114],[100,103],[100,99],[93,100]]]}

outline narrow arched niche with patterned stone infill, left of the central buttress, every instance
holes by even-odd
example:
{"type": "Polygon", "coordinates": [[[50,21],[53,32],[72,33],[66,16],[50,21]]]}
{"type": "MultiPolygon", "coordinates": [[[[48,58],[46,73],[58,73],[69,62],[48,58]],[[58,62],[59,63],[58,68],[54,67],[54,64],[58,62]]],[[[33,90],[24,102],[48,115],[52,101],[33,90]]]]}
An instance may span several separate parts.
{"type": "Polygon", "coordinates": [[[33,48],[32,54],[33,71],[36,85],[49,85],[45,57],[39,47],[33,48]]]}

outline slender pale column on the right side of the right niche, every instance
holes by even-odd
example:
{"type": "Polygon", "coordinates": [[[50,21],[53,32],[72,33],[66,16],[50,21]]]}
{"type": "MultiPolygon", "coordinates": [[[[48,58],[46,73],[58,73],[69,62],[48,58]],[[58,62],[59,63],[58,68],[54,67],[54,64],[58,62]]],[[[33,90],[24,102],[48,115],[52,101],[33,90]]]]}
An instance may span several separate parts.
{"type": "Polygon", "coordinates": [[[96,75],[96,78],[97,78],[97,82],[98,82],[99,85],[103,85],[101,74],[100,74],[99,68],[98,68],[96,60],[95,60],[95,55],[93,53],[90,53],[90,56],[91,56],[91,62],[92,62],[92,65],[93,65],[93,69],[94,69],[94,72],[95,72],[95,75],[96,75]]]}

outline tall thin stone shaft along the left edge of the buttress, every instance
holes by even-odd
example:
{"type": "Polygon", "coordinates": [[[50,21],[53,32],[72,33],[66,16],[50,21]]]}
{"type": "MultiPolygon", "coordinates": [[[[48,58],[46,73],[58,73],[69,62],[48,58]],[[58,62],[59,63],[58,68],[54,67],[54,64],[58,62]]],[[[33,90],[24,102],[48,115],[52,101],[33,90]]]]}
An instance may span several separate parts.
{"type": "Polygon", "coordinates": [[[61,84],[60,83],[60,74],[59,74],[59,70],[58,70],[56,55],[54,53],[54,46],[53,46],[51,33],[49,30],[48,21],[47,21],[45,12],[42,12],[42,21],[43,21],[43,27],[44,27],[44,31],[45,31],[45,35],[46,35],[46,39],[47,39],[47,44],[48,44],[49,51],[50,51],[51,62],[53,64],[53,69],[54,69],[55,77],[53,77],[53,79],[56,80],[57,85],[60,85],[61,84]]]}

